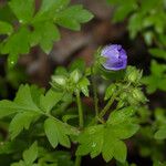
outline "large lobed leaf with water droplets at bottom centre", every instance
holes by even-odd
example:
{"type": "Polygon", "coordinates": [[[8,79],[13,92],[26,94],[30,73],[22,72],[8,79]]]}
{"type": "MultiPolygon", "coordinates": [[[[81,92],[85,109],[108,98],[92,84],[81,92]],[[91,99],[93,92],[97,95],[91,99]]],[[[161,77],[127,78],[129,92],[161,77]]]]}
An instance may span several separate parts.
{"type": "Polygon", "coordinates": [[[93,158],[102,153],[105,162],[110,162],[114,157],[116,160],[124,163],[127,149],[122,139],[129,138],[137,129],[137,124],[126,122],[120,125],[90,126],[79,135],[80,145],[76,155],[84,156],[90,154],[93,158]]]}

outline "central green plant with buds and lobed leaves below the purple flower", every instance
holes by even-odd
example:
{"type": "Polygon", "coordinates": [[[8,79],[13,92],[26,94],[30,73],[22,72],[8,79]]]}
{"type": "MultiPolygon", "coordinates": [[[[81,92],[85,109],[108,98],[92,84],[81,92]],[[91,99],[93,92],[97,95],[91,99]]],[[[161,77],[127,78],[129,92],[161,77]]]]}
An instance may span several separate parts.
{"type": "Polygon", "coordinates": [[[138,106],[146,102],[141,91],[142,74],[135,68],[128,66],[121,79],[115,79],[107,86],[105,102],[103,101],[105,106],[98,107],[95,94],[96,105],[92,110],[81,100],[83,95],[91,97],[90,76],[107,74],[108,77],[116,77],[120,74],[118,71],[105,70],[101,65],[101,58],[98,51],[91,69],[85,68],[81,60],[73,62],[68,70],[58,68],[52,76],[52,87],[48,91],[25,84],[19,87],[13,101],[0,101],[0,118],[3,123],[7,120],[10,122],[6,126],[9,129],[9,139],[1,142],[0,153],[8,154],[12,166],[46,166],[48,162],[50,165],[62,166],[63,162],[64,165],[74,165],[70,153],[54,152],[58,145],[71,148],[71,144],[77,144],[75,166],[87,154],[92,158],[102,154],[105,162],[112,158],[120,163],[126,162],[127,147],[123,141],[138,131],[136,113],[138,106]],[[76,108],[71,106],[74,103],[76,108]],[[114,103],[116,106],[112,107],[114,103]],[[108,116],[105,118],[106,114],[108,116]],[[24,146],[15,147],[19,142],[24,146]],[[56,156],[53,157],[54,155],[56,156]],[[63,155],[69,162],[61,160],[63,155]]]}

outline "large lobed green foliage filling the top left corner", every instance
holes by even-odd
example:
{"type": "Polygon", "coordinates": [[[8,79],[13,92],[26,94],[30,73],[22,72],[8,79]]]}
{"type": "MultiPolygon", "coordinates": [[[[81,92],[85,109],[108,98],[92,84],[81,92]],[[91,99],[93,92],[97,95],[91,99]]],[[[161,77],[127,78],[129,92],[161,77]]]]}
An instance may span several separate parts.
{"type": "Polygon", "coordinates": [[[58,27],[77,31],[93,18],[81,4],[70,6],[70,0],[42,0],[38,11],[34,0],[11,0],[0,7],[0,34],[4,34],[0,53],[9,55],[9,68],[34,45],[49,53],[60,40],[58,27]]]}

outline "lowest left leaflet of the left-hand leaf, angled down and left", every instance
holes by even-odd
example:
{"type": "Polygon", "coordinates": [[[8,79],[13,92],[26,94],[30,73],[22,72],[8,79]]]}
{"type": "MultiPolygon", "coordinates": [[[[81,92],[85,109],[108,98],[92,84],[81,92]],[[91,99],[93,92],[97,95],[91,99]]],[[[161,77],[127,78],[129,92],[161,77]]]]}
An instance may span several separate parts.
{"type": "Polygon", "coordinates": [[[15,138],[23,128],[29,129],[30,124],[39,116],[39,114],[33,112],[18,113],[11,121],[9,125],[9,133],[11,139],[15,138]]]}

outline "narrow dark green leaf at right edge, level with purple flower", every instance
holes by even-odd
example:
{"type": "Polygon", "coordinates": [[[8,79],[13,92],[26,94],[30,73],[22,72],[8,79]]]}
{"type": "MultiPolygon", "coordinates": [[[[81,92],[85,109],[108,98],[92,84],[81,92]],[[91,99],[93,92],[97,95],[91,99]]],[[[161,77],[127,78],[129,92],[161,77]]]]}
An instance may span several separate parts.
{"type": "Polygon", "coordinates": [[[149,49],[148,51],[153,56],[166,60],[166,51],[165,50],[154,48],[154,49],[149,49]]]}

